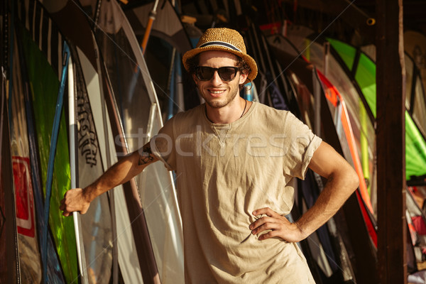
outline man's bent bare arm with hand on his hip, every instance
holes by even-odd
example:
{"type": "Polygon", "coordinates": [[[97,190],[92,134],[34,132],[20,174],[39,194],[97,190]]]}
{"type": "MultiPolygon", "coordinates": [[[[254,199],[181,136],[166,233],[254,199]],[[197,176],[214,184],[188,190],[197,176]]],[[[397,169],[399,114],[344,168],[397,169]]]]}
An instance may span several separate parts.
{"type": "Polygon", "coordinates": [[[314,206],[294,223],[288,222],[288,219],[270,208],[256,209],[253,215],[266,214],[266,217],[250,224],[252,234],[271,230],[259,236],[259,239],[278,236],[285,241],[302,241],[333,217],[359,185],[358,176],[351,165],[325,142],[312,155],[309,168],[327,178],[314,206]]]}

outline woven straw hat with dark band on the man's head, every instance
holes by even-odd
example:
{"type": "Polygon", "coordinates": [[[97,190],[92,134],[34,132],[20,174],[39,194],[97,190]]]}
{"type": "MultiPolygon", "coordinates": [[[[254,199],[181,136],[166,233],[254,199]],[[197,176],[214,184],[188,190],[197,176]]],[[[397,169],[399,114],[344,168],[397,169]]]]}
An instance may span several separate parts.
{"type": "Polygon", "coordinates": [[[235,55],[243,58],[244,61],[249,64],[251,72],[247,77],[246,83],[253,81],[257,75],[257,65],[256,62],[251,58],[250,55],[246,53],[246,45],[244,45],[244,39],[235,30],[230,28],[209,28],[197,43],[197,47],[188,50],[182,57],[183,66],[189,71],[189,66],[187,65],[187,60],[194,57],[198,53],[202,53],[207,50],[223,50],[229,53],[234,53],[235,55]]]}

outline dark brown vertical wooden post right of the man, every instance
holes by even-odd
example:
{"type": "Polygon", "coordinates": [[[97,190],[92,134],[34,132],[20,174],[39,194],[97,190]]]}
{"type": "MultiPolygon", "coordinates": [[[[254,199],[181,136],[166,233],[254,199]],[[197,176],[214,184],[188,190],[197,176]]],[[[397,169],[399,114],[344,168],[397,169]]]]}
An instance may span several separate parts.
{"type": "Polygon", "coordinates": [[[376,0],[378,275],[407,283],[403,0],[376,0]]]}

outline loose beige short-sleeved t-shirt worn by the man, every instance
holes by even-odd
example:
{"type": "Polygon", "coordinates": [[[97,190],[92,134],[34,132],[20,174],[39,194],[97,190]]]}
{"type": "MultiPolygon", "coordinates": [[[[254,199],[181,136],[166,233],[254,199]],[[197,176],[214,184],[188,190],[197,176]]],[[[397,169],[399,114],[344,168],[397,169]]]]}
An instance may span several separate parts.
{"type": "Polygon", "coordinates": [[[151,141],[176,170],[185,283],[314,283],[296,244],[258,240],[254,209],[290,213],[321,139],[288,111],[253,103],[231,124],[212,124],[204,104],[176,114],[151,141]]]}

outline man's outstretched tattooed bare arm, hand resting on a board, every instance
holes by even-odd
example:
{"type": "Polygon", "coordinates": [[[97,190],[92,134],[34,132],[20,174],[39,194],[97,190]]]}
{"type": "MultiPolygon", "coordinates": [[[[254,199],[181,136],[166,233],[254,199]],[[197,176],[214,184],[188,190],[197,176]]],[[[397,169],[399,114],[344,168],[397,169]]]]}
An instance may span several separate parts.
{"type": "Polygon", "coordinates": [[[85,188],[73,188],[68,190],[60,201],[60,209],[64,216],[70,216],[72,212],[84,214],[89,209],[90,202],[95,197],[102,195],[111,188],[128,182],[142,172],[147,165],[154,163],[158,158],[153,155],[150,143],[146,143],[138,151],[126,155],[111,166],[92,185],[85,188]]]}

